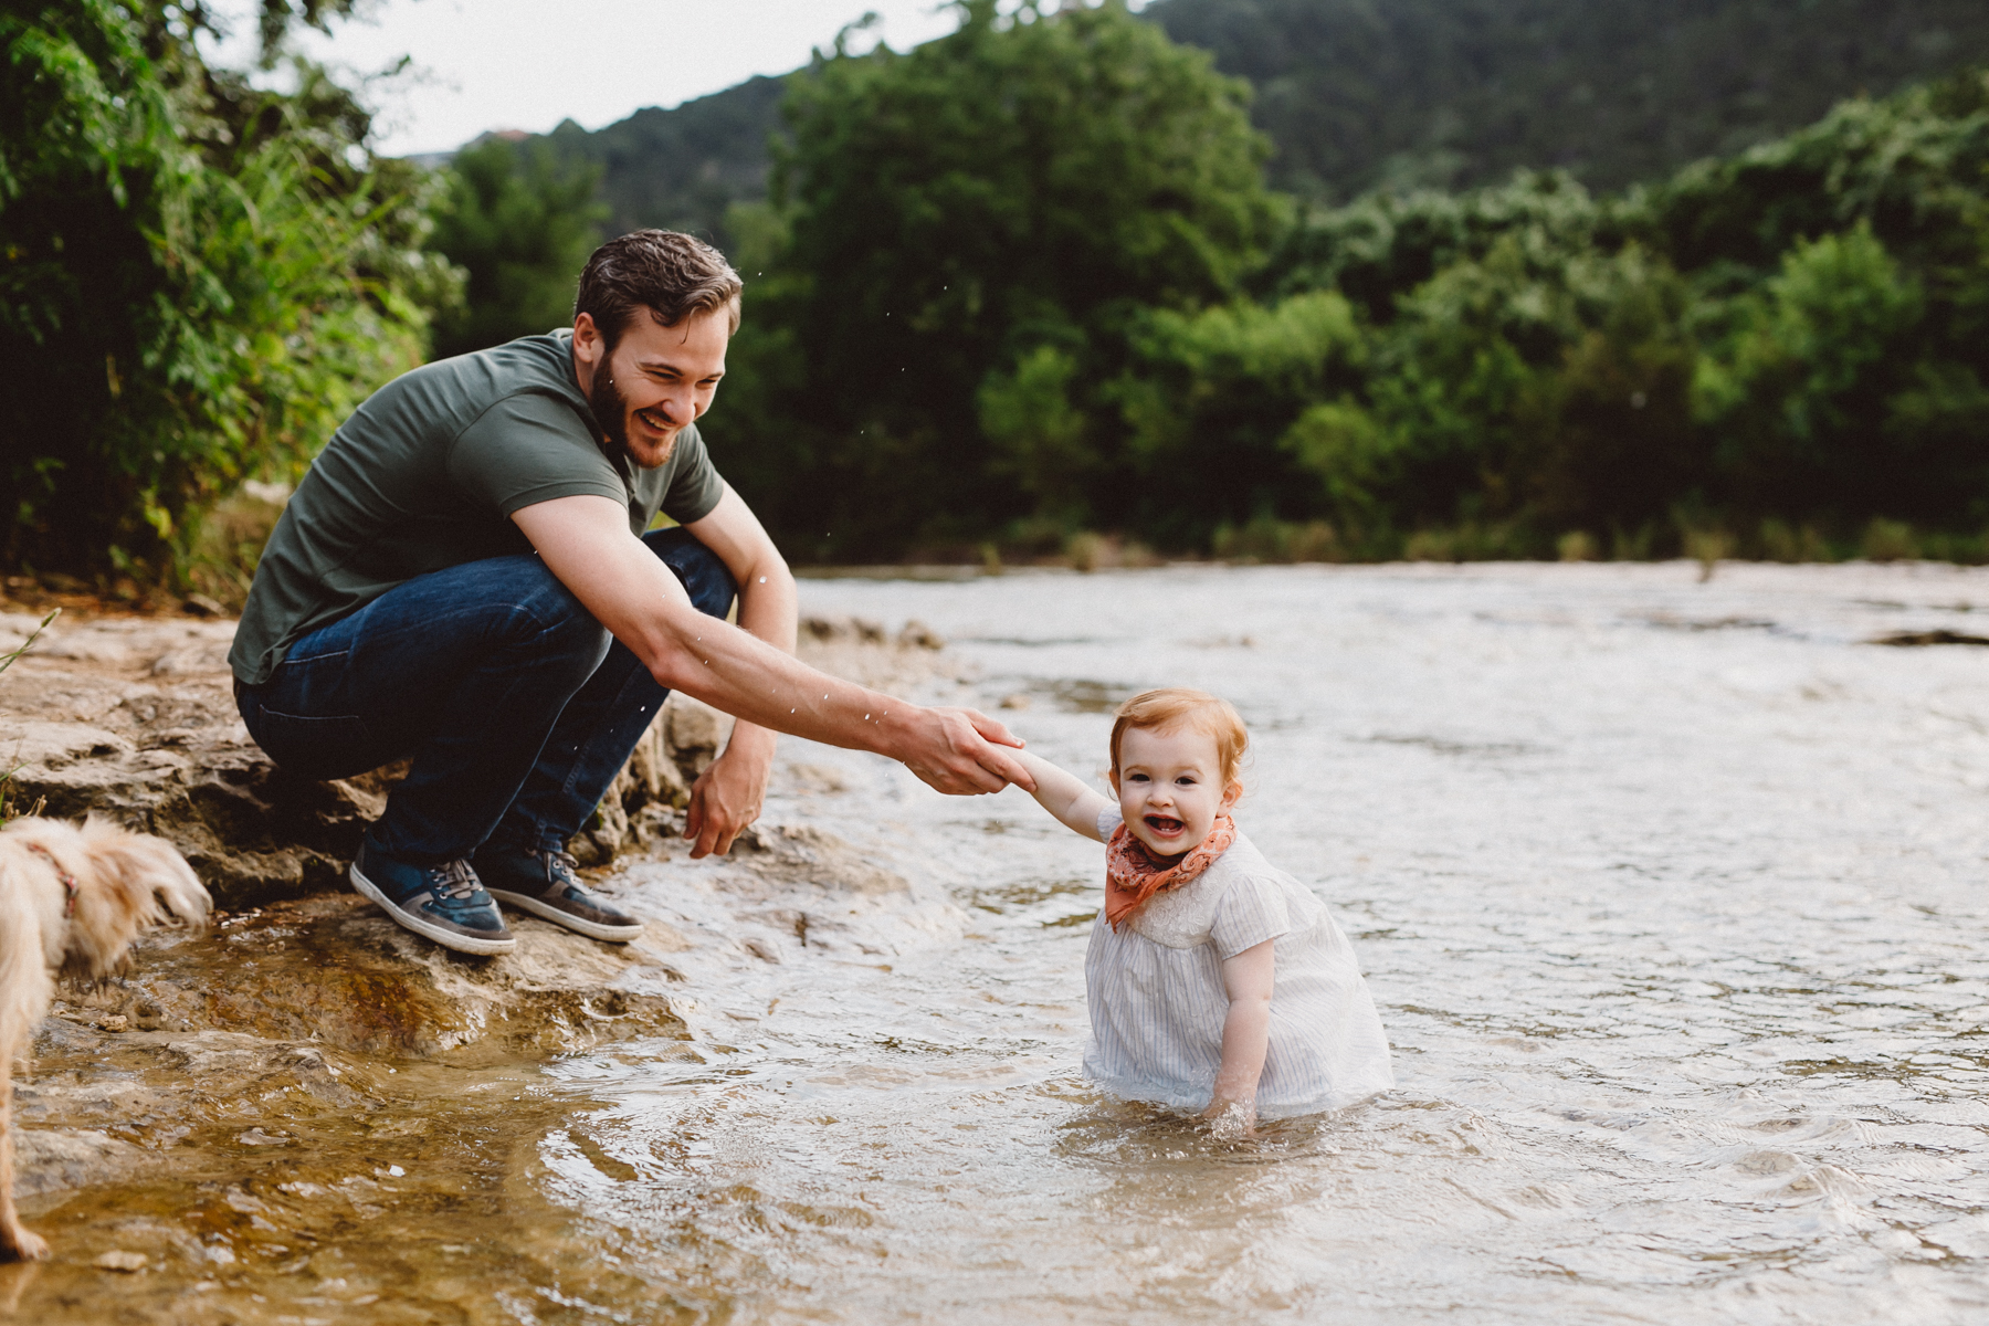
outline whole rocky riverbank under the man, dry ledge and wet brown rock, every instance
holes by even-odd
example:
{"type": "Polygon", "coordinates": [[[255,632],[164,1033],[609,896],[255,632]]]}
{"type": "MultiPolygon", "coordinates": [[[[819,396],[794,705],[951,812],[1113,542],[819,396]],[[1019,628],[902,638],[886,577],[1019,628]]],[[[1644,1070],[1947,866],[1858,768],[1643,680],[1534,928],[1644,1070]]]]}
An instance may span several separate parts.
{"type": "MultiPolygon", "coordinates": [[[[0,652],[38,620],[0,612],[0,652]]],[[[692,994],[676,954],[724,944],[742,960],[776,960],[768,936],[694,936],[654,914],[627,946],[515,918],[517,950],[487,960],[406,934],[342,875],[398,769],[304,781],[271,765],[235,714],[231,638],[227,620],[72,614],[0,674],[0,769],[12,769],[16,805],[109,815],[171,839],[221,909],[207,932],[147,938],[127,976],[68,990],[32,1074],[16,1077],[18,1191],[56,1262],[4,1274],[74,1280],[74,1320],[101,1320],[93,1278],[129,1266],[179,1268],[145,1280],[143,1302],[119,1280],[133,1320],[229,1320],[227,1294],[209,1302],[199,1284],[308,1254],[332,1229],[384,1209],[374,1187],[400,1193],[396,1211],[410,1195],[444,1201],[408,1177],[410,1159],[434,1159],[428,1183],[459,1185],[479,1129],[533,1109],[521,1083],[549,1056],[633,1038],[650,1054],[678,1040],[698,1056],[672,1010],[692,994]],[[368,1159],[376,1151],[380,1165],[368,1159]],[[352,1189],[354,1173],[374,1169],[366,1191],[352,1189]],[[272,1203],[294,1211],[276,1219],[272,1203]]],[[[885,632],[845,618],[804,630],[810,662],[899,694],[953,676],[939,644],[917,624],[885,632]]],[[[638,914],[623,867],[684,857],[680,811],[726,728],[672,698],[575,841],[595,885],[638,914]]],[[[841,839],[784,825],[756,825],[726,861],[698,869],[752,897],[859,903],[903,889],[841,839]]],[[[48,1288],[34,1298],[50,1302],[48,1288]]],[[[8,1294],[0,1282],[0,1310],[8,1294]]]]}

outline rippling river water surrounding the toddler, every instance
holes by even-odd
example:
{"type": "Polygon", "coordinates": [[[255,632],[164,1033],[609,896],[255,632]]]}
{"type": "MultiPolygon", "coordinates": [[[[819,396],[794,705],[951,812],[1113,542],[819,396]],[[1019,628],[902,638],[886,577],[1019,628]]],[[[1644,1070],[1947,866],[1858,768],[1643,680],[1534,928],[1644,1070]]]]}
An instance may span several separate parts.
{"type": "MultiPolygon", "coordinates": [[[[631,867],[690,940],[694,1054],[402,1066],[386,1119],[263,1123],[282,1157],[217,1131],[36,1217],[58,1248],[123,1219],[165,1270],[0,1294],[78,1322],[1981,1320],[1989,658],[1866,642],[1989,575],[1695,580],[804,586],[959,642],[961,702],[1231,698],[1239,819],[1335,907],[1396,1046],[1366,1107],[1221,1141],[1102,1099],[1074,1072],[1098,847],[790,744],[770,819],[911,891],[631,867]],[[195,1270],[175,1241],[211,1229],[233,1260],[195,1270]]],[[[1094,771],[1106,708],[1004,718],[1094,771]]]]}

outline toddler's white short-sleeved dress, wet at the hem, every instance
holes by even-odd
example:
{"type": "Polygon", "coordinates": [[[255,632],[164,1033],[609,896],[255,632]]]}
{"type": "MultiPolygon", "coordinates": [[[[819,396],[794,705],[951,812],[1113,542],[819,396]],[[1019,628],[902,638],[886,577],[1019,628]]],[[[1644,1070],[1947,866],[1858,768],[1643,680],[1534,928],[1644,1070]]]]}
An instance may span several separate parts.
{"type": "MultiPolygon", "coordinates": [[[[1118,825],[1116,805],[1098,815],[1100,837],[1118,825]]],[[[1229,1016],[1221,964],[1267,938],[1277,976],[1259,1117],[1345,1109],[1390,1089],[1388,1038],[1353,944],[1325,903],[1241,831],[1215,865],[1156,893],[1122,930],[1098,911],[1084,952],[1084,1076],[1124,1099],[1207,1109],[1229,1016]]]]}

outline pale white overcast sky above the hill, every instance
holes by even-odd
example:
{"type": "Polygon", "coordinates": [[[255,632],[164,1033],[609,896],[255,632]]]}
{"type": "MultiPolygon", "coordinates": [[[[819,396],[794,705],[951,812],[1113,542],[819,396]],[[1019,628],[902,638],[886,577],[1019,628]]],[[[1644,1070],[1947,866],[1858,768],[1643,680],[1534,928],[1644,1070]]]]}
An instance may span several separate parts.
{"type": "MultiPolygon", "coordinates": [[[[253,2],[219,8],[243,18],[217,54],[247,64],[253,2]]],[[[786,74],[867,10],[895,50],[955,26],[935,0],[382,0],[370,20],[300,46],[356,74],[414,58],[414,78],[370,89],[378,149],[406,155],[450,151],[485,129],[543,133],[561,119],[599,129],[644,105],[786,74]]]]}

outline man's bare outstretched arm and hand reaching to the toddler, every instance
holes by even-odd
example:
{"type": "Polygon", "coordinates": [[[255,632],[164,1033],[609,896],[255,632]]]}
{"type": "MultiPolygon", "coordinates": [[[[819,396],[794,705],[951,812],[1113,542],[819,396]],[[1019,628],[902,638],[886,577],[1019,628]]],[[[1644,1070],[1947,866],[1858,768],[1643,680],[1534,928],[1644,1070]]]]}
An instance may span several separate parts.
{"type": "Polygon", "coordinates": [[[670,569],[629,533],[621,503],[555,497],[511,519],[547,569],[660,686],[760,728],[901,759],[939,791],[1034,787],[1028,769],[1004,749],[1020,742],[993,718],[923,708],[831,678],[698,612],[670,569]]]}

